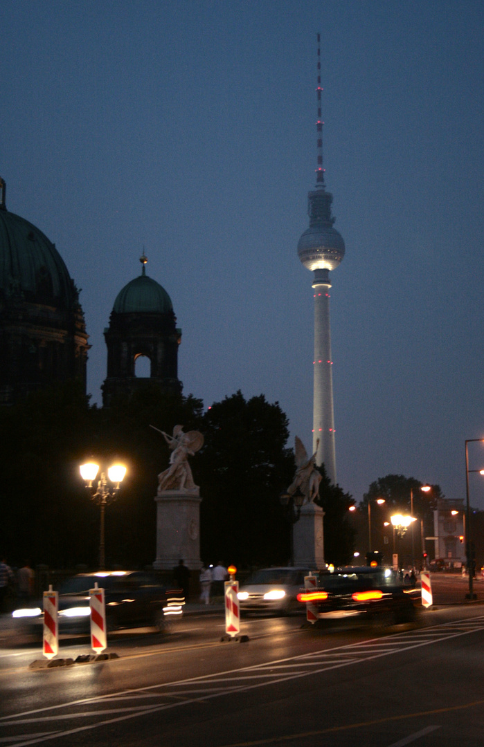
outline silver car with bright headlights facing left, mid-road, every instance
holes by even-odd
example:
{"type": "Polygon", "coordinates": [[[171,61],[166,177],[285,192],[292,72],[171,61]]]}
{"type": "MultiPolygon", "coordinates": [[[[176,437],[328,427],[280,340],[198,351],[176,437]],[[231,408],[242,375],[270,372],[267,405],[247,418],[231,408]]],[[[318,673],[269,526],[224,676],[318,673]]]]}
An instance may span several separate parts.
{"type": "Polygon", "coordinates": [[[240,586],[241,613],[268,612],[287,614],[300,610],[298,592],[304,586],[309,568],[260,568],[240,586]]]}

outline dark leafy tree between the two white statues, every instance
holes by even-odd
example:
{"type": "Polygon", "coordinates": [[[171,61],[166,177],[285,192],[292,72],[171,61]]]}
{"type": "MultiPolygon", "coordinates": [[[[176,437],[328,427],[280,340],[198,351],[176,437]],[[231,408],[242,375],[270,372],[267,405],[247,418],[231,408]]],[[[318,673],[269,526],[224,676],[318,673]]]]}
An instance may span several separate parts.
{"type": "Polygon", "coordinates": [[[287,562],[290,527],[279,495],[295,466],[281,407],[237,391],[207,410],[201,430],[205,445],[194,477],[203,498],[203,559],[240,567],[287,562]]]}

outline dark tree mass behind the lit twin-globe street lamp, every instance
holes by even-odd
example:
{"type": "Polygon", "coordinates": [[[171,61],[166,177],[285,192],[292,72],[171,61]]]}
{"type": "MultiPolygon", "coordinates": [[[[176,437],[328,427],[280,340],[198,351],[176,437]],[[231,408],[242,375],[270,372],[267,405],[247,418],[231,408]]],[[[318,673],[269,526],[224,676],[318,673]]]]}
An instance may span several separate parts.
{"type": "Polygon", "coordinates": [[[157,387],[105,409],[89,407],[73,385],[32,394],[0,409],[0,548],[13,563],[30,557],[53,567],[95,566],[99,507],[90,499],[79,465],[115,459],[128,471],[119,497],[106,509],[108,567],[140,567],[156,554],[156,475],[168,464],[163,430],[199,427],[202,403],[157,387]]]}

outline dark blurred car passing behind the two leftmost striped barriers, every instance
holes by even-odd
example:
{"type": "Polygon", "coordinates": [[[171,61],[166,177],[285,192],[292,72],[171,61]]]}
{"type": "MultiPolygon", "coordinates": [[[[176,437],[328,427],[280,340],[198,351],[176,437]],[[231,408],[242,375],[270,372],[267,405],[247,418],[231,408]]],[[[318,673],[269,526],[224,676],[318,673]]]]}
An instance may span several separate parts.
{"type": "MultiPolygon", "coordinates": [[[[89,590],[95,584],[105,590],[106,626],[165,628],[168,620],[183,613],[183,596],[170,591],[156,574],[145,571],[98,571],[82,573],[61,583],[59,592],[59,633],[85,633],[90,626],[89,590]]],[[[38,628],[43,624],[42,604],[14,610],[20,624],[38,628]]]]}

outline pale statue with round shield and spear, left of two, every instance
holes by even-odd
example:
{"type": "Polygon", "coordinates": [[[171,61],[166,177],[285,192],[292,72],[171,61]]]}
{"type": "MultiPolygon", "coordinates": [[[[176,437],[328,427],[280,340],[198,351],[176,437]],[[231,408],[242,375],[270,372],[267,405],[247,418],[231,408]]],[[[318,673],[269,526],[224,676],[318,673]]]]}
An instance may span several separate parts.
{"type": "Polygon", "coordinates": [[[158,495],[165,490],[197,490],[189,465],[189,456],[194,456],[194,453],[203,446],[200,431],[189,430],[188,433],[183,433],[183,426],[176,425],[173,436],[168,436],[168,433],[159,428],[153,425],[151,427],[162,434],[171,449],[170,466],[158,475],[158,495]]]}

